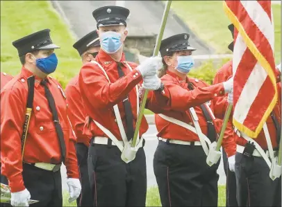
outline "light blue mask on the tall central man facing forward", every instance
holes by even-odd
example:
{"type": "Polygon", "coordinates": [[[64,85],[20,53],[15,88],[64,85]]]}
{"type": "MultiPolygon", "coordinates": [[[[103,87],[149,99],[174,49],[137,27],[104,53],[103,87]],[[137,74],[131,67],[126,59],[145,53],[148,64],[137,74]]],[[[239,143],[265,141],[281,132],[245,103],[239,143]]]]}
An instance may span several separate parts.
{"type": "Polygon", "coordinates": [[[122,35],[112,31],[101,33],[101,48],[108,54],[117,53],[122,46],[122,35]]]}

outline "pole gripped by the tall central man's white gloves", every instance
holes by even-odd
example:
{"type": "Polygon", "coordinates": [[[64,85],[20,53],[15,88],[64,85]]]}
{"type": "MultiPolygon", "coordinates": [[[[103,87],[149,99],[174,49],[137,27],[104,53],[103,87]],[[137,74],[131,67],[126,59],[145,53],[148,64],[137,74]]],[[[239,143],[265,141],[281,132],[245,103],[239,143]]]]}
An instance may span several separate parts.
{"type": "MultiPolygon", "coordinates": [[[[167,3],[165,4],[165,11],[163,12],[163,19],[162,19],[162,23],[160,25],[160,33],[158,33],[158,37],[156,39],[156,46],[154,48],[153,57],[157,56],[158,51],[160,50],[160,42],[163,39],[163,32],[165,30],[165,24],[167,24],[167,17],[168,17],[168,14],[169,14],[169,8],[170,8],[171,4],[172,4],[172,0],[167,1],[167,3]]],[[[131,147],[135,147],[135,144],[136,144],[136,141],[137,141],[137,136],[138,136],[139,128],[140,128],[140,125],[141,125],[142,117],[143,117],[143,114],[144,114],[144,108],[145,108],[145,103],[147,101],[148,92],[149,92],[148,90],[144,91],[140,110],[139,110],[139,113],[138,113],[138,118],[137,118],[136,125],[135,125],[135,132],[134,132],[134,136],[133,136],[133,141],[131,143],[131,147]]]]}

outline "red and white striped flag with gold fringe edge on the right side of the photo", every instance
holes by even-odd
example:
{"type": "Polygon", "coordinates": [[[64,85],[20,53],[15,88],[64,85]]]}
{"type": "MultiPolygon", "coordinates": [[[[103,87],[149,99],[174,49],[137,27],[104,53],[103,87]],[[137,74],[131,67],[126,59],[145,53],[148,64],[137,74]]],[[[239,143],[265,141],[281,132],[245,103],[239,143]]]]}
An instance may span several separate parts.
{"type": "Polygon", "coordinates": [[[233,125],[256,138],[276,105],[271,1],[224,1],[235,26],[233,125]]]}

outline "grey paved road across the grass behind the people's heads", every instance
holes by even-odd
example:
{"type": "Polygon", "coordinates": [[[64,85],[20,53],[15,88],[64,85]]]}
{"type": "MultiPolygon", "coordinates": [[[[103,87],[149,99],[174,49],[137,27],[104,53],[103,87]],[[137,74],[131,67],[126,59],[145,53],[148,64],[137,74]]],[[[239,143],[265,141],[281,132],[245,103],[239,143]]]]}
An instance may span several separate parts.
{"type": "MultiPolygon", "coordinates": [[[[115,1],[51,1],[65,22],[69,24],[76,38],[81,38],[96,28],[92,11],[101,6],[115,6],[115,1]]],[[[161,1],[126,1],[131,11],[128,19],[128,35],[158,34],[163,17],[164,4],[161,1]]],[[[163,38],[179,33],[190,34],[190,44],[197,48],[194,55],[208,55],[213,51],[199,40],[172,10],[169,11],[163,38]]]]}

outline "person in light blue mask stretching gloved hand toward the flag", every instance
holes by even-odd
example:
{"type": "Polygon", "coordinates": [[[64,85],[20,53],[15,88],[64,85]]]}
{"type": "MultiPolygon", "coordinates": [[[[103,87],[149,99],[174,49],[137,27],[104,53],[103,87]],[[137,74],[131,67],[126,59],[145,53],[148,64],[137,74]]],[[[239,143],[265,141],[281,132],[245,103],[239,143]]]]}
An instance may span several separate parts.
{"type": "Polygon", "coordinates": [[[217,206],[219,161],[211,167],[206,163],[208,145],[215,147],[218,133],[210,100],[228,93],[233,79],[208,86],[188,78],[195,50],[189,37],[186,33],[174,35],[160,45],[164,66],[159,77],[165,85],[162,94],[166,101],[159,102],[155,91],[149,93],[147,101],[148,109],[159,106],[154,173],[163,206],[217,206]]]}

